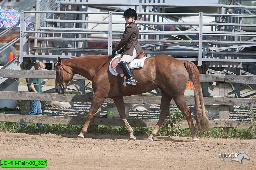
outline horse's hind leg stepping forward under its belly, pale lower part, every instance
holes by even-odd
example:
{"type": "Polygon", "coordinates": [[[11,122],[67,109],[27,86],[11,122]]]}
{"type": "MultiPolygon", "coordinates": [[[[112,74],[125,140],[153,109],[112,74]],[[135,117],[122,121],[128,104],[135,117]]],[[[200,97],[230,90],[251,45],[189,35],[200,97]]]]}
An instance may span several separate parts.
{"type": "Polygon", "coordinates": [[[160,106],[161,112],[160,112],[159,120],[156,123],[155,128],[152,130],[147,140],[153,141],[153,137],[156,136],[159,128],[162,126],[162,124],[164,123],[164,120],[169,115],[169,107],[170,107],[171,100],[172,98],[162,90],[162,98],[161,98],[161,106],[160,106]]]}

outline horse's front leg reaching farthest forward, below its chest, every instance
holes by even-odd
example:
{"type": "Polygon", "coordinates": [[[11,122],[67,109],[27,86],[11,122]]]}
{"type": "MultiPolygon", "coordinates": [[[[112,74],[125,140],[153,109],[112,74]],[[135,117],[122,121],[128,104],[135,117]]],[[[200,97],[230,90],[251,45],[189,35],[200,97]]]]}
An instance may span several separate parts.
{"type": "Polygon", "coordinates": [[[106,98],[97,97],[95,94],[93,95],[92,105],[91,105],[89,113],[86,117],[84,126],[83,126],[81,132],[79,133],[79,135],[76,138],[84,138],[84,133],[87,132],[87,129],[88,129],[88,126],[89,126],[89,123],[90,123],[92,117],[97,112],[97,110],[101,106],[102,102],[105,101],[105,100],[106,100],[106,98]]]}

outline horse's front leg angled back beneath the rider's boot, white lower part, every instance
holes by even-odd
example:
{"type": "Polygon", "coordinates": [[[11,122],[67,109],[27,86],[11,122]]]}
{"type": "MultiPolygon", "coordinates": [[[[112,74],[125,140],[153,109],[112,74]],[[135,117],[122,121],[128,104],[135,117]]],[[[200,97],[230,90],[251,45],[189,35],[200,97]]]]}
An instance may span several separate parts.
{"type": "Polygon", "coordinates": [[[114,103],[116,104],[116,108],[118,110],[118,113],[120,115],[120,119],[124,122],[126,128],[128,129],[128,132],[130,134],[130,140],[136,140],[136,137],[133,136],[133,130],[130,124],[126,120],[126,115],[125,115],[125,108],[124,108],[124,98],[115,98],[113,99],[114,103]]]}

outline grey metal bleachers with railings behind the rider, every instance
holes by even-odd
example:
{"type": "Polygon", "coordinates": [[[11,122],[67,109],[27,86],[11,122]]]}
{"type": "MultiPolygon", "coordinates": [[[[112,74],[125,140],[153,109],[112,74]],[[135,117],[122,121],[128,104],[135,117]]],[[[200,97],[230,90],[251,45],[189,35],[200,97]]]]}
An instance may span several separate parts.
{"type": "MultiPolygon", "coordinates": [[[[87,2],[60,2],[61,5],[114,5],[125,6],[126,3],[87,3],[87,2]]],[[[130,4],[131,5],[131,4],[130,4]]],[[[135,8],[137,7],[148,7],[158,6],[161,7],[202,7],[205,5],[200,4],[161,4],[161,3],[133,3],[135,8]]],[[[207,7],[216,7],[228,9],[255,9],[254,6],[243,6],[243,5],[222,5],[222,4],[207,4],[207,7]]],[[[225,10],[224,10],[225,11],[225,10]]],[[[23,11],[31,12],[31,11],[23,11]]],[[[28,37],[28,41],[39,40],[40,46],[34,45],[30,49],[30,45],[25,47],[26,38],[23,37],[23,52],[20,54],[20,61],[23,61],[23,57],[29,58],[52,58],[56,56],[62,58],[69,58],[74,55],[84,54],[110,54],[112,43],[120,41],[121,35],[124,29],[114,29],[112,24],[124,25],[124,22],[115,20],[115,15],[123,14],[123,12],[89,12],[89,11],[34,11],[35,13],[49,13],[52,14],[53,18],[45,19],[45,26],[40,26],[36,31],[30,31],[30,33],[39,33],[38,36],[28,37]],[[54,18],[54,14],[58,15],[54,18]],[[107,20],[97,21],[71,19],[71,15],[107,15],[107,20]],[[69,16],[69,17],[67,17],[69,16]],[[85,24],[84,27],[78,27],[78,24],[85,24]],[[107,28],[104,29],[89,29],[87,24],[107,24],[107,28]],[[66,25],[67,24],[67,25],[66,25]],[[68,28],[67,28],[68,26],[68,28]],[[106,38],[89,38],[90,34],[105,35],[106,38]],[[44,43],[43,43],[44,42],[44,43]],[[107,42],[106,48],[87,48],[85,42],[107,42]],[[80,44],[79,44],[80,43],[80,44]],[[79,45],[78,45],[79,44],[79,45]],[[28,53],[27,53],[28,48],[28,53]],[[25,51],[24,51],[25,50],[25,51]],[[35,51],[35,53],[31,53],[35,51]]],[[[77,18],[77,17],[76,17],[77,18]]],[[[242,30],[243,27],[255,27],[256,24],[242,24],[237,23],[241,18],[256,18],[256,15],[245,15],[245,14],[209,14],[209,13],[167,13],[167,12],[138,12],[139,20],[136,22],[140,27],[140,39],[139,43],[143,47],[144,51],[148,55],[167,54],[172,55],[175,58],[182,60],[198,61],[198,65],[202,65],[203,62],[256,62],[253,59],[255,55],[254,51],[242,51],[246,47],[256,46],[255,32],[246,32],[242,30]],[[162,21],[142,21],[141,18],[150,18],[155,16],[198,16],[198,22],[162,22],[162,21]],[[204,17],[214,17],[213,22],[204,22],[204,17]],[[227,23],[226,20],[235,18],[235,23],[227,23]],[[225,20],[226,19],[226,20],[225,20]],[[162,27],[162,30],[156,29],[162,27]],[[189,26],[185,31],[163,31],[167,26],[179,27],[189,26]],[[194,26],[194,27],[191,27],[194,26]],[[211,31],[204,31],[205,26],[210,26],[211,31]],[[179,35],[185,35],[187,39],[180,38],[179,35]],[[164,36],[170,36],[172,39],[166,39],[164,36]],[[196,40],[192,40],[192,37],[196,40]],[[243,37],[247,40],[242,41],[243,37]],[[168,48],[165,48],[168,47],[168,48]],[[186,57],[189,56],[189,57],[186,57]]],[[[21,33],[27,33],[22,30],[21,33]]],[[[30,44],[30,43],[28,43],[30,44]]],[[[22,45],[22,43],[21,43],[22,45]]]]}

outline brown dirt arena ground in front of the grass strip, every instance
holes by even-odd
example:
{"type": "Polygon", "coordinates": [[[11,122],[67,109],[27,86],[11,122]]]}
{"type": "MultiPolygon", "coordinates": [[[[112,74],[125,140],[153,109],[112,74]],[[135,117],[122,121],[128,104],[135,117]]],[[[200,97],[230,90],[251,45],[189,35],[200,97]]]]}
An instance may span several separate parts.
{"type": "Polygon", "coordinates": [[[0,133],[0,159],[46,159],[46,169],[256,169],[255,139],[200,138],[193,143],[190,137],[156,137],[154,142],[146,136],[136,141],[121,135],[86,137],[0,133]],[[245,152],[250,160],[221,161],[219,152],[245,152]]]}

